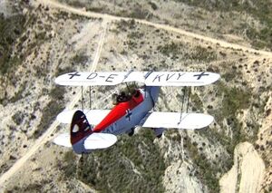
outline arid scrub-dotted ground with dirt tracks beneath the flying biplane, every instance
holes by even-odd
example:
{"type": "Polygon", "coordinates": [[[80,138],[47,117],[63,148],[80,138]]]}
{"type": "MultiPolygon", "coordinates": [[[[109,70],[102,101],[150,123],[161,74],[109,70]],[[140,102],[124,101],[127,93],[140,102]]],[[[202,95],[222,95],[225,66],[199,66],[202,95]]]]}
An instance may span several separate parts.
{"type": "MultiPolygon", "coordinates": [[[[0,192],[271,192],[269,10],[268,0],[0,0],[0,192]],[[82,104],[56,76],[131,69],[218,72],[189,101],[215,121],[160,139],[137,128],[83,156],[53,144],[69,128],[57,114],[82,104]]],[[[92,108],[111,108],[121,87],[94,87],[92,108]]],[[[183,92],[162,88],[156,109],[180,111],[183,92]]]]}

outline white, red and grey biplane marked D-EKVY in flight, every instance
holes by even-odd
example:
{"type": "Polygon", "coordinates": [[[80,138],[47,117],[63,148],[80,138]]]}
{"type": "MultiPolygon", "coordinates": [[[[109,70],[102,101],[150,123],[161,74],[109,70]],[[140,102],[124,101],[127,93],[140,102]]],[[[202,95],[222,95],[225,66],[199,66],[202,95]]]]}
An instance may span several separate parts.
{"type": "MultiPolygon", "coordinates": [[[[214,118],[209,114],[188,112],[184,109],[185,94],[189,101],[190,87],[204,86],[219,80],[214,72],[70,72],[55,79],[64,86],[114,86],[140,82],[141,88],[113,94],[112,110],[62,111],[57,120],[70,123],[70,133],[57,136],[53,142],[64,147],[72,147],[75,153],[89,153],[111,147],[116,135],[133,135],[136,127],[154,130],[160,137],[164,130],[197,130],[207,127],[214,118]],[[181,111],[154,111],[161,86],[181,86],[184,90],[181,111]]],[[[83,95],[83,92],[82,92],[83,95]]],[[[91,89],[90,89],[91,98],[91,89]]],[[[91,99],[90,99],[91,100],[91,99]]],[[[188,103],[187,103],[188,105],[188,103]]]]}

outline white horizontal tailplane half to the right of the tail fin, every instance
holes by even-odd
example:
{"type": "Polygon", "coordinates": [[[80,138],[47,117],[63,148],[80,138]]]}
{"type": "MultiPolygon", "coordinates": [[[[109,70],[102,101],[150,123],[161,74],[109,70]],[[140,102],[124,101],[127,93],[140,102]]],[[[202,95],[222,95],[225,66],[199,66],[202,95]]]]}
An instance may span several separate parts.
{"type": "Polygon", "coordinates": [[[86,150],[105,149],[111,147],[116,141],[117,137],[115,135],[94,132],[84,140],[84,148],[86,150]]]}

